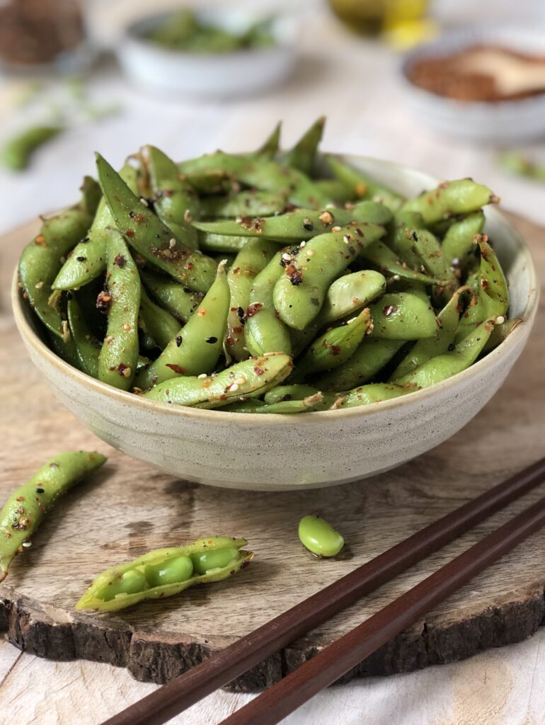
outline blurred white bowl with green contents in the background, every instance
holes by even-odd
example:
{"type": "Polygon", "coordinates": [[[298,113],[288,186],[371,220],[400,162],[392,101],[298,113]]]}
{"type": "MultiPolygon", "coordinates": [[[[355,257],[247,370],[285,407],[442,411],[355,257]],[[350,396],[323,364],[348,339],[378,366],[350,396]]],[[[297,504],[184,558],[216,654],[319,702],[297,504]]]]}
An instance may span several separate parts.
{"type": "Polygon", "coordinates": [[[294,67],[293,16],[263,18],[242,9],[199,7],[184,16],[191,17],[192,28],[175,40],[176,33],[170,37],[170,31],[181,17],[162,13],[125,29],[117,55],[137,86],[171,97],[240,96],[280,83],[294,67]],[[259,30],[261,22],[266,33],[259,30]],[[267,42],[259,42],[259,35],[267,42]]]}

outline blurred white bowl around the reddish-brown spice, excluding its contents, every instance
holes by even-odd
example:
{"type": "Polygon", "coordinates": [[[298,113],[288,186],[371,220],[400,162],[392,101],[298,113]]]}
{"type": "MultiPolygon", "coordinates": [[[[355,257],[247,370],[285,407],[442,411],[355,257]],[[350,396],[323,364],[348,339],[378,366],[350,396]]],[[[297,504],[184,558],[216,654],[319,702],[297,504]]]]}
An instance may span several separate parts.
{"type": "Polygon", "coordinates": [[[439,133],[480,143],[511,144],[545,137],[545,94],[513,101],[458,101],[425,91],[408,78],[415,61],[443,57],[475,45],[496,45],[545,55],[545,26],[478,26],[447,33],[409,53],[402,67],[406,105],[420,123],[439,133]]]}

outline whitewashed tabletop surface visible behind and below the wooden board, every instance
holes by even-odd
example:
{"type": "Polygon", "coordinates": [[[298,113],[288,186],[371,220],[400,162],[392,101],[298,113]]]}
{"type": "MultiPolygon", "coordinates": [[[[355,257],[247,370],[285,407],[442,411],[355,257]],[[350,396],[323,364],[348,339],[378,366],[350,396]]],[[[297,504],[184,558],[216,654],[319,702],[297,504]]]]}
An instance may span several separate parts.
{"type": "MultiPolygon", "coordinates": [[[[442,0],[437,5],[440,17],[457,22],[466,20],[468,12],[486,20],[491,7],[510,20],[545,12],[543,0],[442,0]]],[[[105,18],[99,25],[115,29],[116,7],[107,4],[107,13],[96,16],[105,18]]],[[[251,149],[279,119],[288,146],[323,113],[328,115],[325,149],[394,159],[443,178],[471,175],[491,186],[510,210],[545,223],[545,187],[504,175],[496,165],[495,149],[434,136],[408,114],[396,80],[399,57],[394,53],[347,35],[319,9],[302,26],[299,53],[296,72],[282,88],[221,103],[150,99],[125,86],[114,65],[104,67],[93,75],[90,93],[96,99],[120,101],[122,113],[59,137],[37,154],[28,172],[0,173],[0,232],[75,199],[81,176],[93,173],[95,149],[114,165],[144,143],[157,144],[177,159],[220,146],[229,151],[251,149]]],[[[0,86],[0,137],[21,123],[23,113],[10,111],[16,92],[12,81],[0,86]]],[[[59,94],[62,89],[51,86],[50,98],[59,94]]],[[[35,105],[24,115],[37,118],[42,112],[35,105]]],[[[530,150],[544,154],[545,146],[534,144],[530,150]]],[[[540,632],[528,642],[464,663],[330,689],[286,722],[545,724],[544,645],[545,633],[540,632]]],[[[93,725],[153,688],[133,681],[122,669],[88,662],[51,663],[21,654],[7,642],[0,644],[1,725],[93,725]]],[[[210,724],[244,700],[244,695],[219,692],[172,722],[210,724]]]]}

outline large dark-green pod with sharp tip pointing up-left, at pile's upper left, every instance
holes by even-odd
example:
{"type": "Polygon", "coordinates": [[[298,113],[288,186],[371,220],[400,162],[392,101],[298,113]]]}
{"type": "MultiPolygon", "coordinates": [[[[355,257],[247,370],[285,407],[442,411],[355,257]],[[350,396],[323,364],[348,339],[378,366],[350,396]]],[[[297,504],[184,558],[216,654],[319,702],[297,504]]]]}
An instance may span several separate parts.
{"type": "Polygon", "coordinates": [[[96,155],[99,181],[108,206],[128,244],[152,265],[197,292],[212,285],[216,264],[201,252],[182,244],[112,169],[96,155]]]}

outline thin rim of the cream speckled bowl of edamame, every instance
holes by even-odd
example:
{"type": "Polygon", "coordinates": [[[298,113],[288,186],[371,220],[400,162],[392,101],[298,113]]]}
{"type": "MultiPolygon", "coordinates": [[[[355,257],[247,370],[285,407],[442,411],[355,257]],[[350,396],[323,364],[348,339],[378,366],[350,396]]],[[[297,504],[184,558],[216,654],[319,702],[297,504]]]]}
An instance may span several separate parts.
{"type": "MultiPolygon", "coordinates": [[[[417,170],[413,167],[398,164],[396,162],[388,161],[386,159],[360,156],[358,154],[335,155],[339,158],[348,160],[349,162],[351,159],[357,159],[360,162],[367,161],[371,164],[379,162],[380,165],[382,165],[383,167],[390,167],[391,170],[395,169],[404,173],[408,172],[420,174],[423,177],[427,178],[429,183],[439,183],[440,181],[438,178],[431,174],[421,172],[420,170],[417,170]]],[[[25,315],[25,310],[23,309],[23,299],[22,295],[20,294],[18,264],[14,269],[14,275],[12,280],[12,311],[14,313],[15,323],[19,330],[20,336],[26,344],[30,344],[30,346],[33,347],[34,351],[38,355],[45,358],[45,360],[50,365],[54,365],[55,367],[57,367],[57,369],[59,369],[61,373],[65,373],[67,376],[70,376],[73,381],[93,389],[94,392],[107,395],[117,402],[125,403],[128,405],[137,405],[138,407],[141,407],[142,410],[149,410],[151,413],[168,413],[170,415],[177,415],[181,418],[188,418],[190,420],[191,418],[194,418],[196,420],[208,419],[209,421],[215,421],[215,423],[229,423],[229,421],[231,423],[243,423],[245,421],[246,424],[249,423],[251,425],[255,425],[257,421],[262,421],[262,423],[267,423],[267,425],[288,425],[292,422],[299,425],[309,423],[312,424],[317,421],[341,422],[346,418],[375,415],[380,413],[381,411],[394,410],[395,408],[407,405],[409,401],[422,402],[425,401],[425,399],[429,399],[430,397],[441,394],[441,392],[448,391],[449,389],[454,389],[462,381],[478,375],[479,373],[485,371],[487,368],[493,368],[499,357],[501,357],[504,353],[515,349],[518,346],[519,342],[525,338],[526,334],[530,333],[531,326],[533,325],[533,320],[536,316],[539,299],[539,286],[536,276],[536,268],[533,264],[532,254],[530,252],[528,244],[526,244],[523,237],[520,235],[517,229],[509,222],[509,220],[504,217],[502,212],[494,208],[488,208],[487,215],[491,216],[492,218],[497,218],[504,225],[507,225],[510,233],[512,233],[517,243],[518,253],[523,254],[523,257],[525,259],[530,283],[528,299],[526,301],[524,311],[522,315],[520,315],[523,323],[525,324],[517,325],[509,333],[506,339],[504,339],[496,348],[491,350],[491,352],[488,352],[488,355],[483,357],[481,360],[473,363],[473,365],[470,365],[469,368],[462,370],[461,373],[457,373],[456,375],[451,376],[450,378],[447,378],[440,383],[436,383],[429,387],[416,390],[409,395],[402,395],[397,398],[369,403],[368,405],[355,406],[338,410],[315,410],[310,411],[309,413],[299,413],[298,415],[296,415],[296,421],[292,421],[292,416],[288,414],[236,413],[222,410],[221,408],[208,410],[203,408],[190,407],[186,405],[172,405],[170,403],[159,402],[157,400],[149,400],[142,397],[141,395],[136,395],[128,391],[114,388],[113,386],[96,380],[96,378],[92,378],[86,373],[83,373],[81,370],[72,367],[70,363],[62,360],[61,357],[56,355],[49,347],[47,347],[47,345],[38,337],[36,332],[33,331],[33,328],[30,326],[30,323],[28,322],[25,315]]]]}

